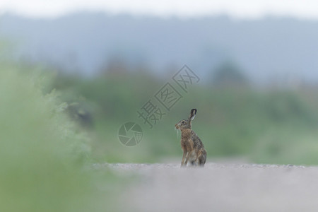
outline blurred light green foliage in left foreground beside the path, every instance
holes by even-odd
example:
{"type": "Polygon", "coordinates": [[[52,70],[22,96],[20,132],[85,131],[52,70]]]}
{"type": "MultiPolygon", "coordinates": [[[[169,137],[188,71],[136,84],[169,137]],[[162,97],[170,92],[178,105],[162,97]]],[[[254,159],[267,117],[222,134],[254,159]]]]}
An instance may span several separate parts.
{"type": "Polygon", "coordinates": [[[88,134],[42,92],[47,76],[20,68],[0,71],[0,211],[112,211],[121,180],[84,169],[88,134]]]}

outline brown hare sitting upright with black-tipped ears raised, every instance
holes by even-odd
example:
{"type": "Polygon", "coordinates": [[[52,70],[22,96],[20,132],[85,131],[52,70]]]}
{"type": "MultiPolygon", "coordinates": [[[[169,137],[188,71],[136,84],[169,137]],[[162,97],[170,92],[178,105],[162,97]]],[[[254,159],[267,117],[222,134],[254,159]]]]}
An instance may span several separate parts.
{"type": "Polygon", "coordinates": [[[187,166],[188,160],[192,165],[204,166],[206,163],[206,150],[199,136],[191,129],[191,121],[196,116],[196,109],[192,109],[187,120],[183,119],[175,128],[181,131],[181,148],[183,156],[181,166],[187,166]]]}

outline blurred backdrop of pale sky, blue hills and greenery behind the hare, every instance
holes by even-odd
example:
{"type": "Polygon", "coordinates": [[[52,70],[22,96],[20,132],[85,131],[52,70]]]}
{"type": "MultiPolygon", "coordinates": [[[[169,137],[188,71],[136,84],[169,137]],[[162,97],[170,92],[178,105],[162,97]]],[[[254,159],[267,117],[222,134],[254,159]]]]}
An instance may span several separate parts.
{"type": "Polygon", "coordinates": [[[156,5],[115,9],[92,1],[100,8],[84,10],[70,1],[73,8],[52,3],[40,10],[34,2],[23,10],[14,1],[2,6],[3,58],[50,73],[43,89],[56,90],[71,119],[93,135],[93,160],[179,157],[174,126],[196,107],[193,128],[210,158],[318,163],[315,13],[261,1],[194,9],[165,2],[158,6],[171,10],[153,13],[156,5]],[[184,64],[201,80],[149,129],[137,110],[184,64]],[[144,133],[131,148],[117,138],[129,121],[144,133]]]}

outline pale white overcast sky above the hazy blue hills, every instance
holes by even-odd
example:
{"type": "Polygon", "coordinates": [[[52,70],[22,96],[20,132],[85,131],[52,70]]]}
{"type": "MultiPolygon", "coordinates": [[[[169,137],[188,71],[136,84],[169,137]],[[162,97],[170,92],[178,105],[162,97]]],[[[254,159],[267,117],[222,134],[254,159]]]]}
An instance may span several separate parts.
{"type": "Polygon", "coordinates": [[[74,11],[106,11],[163,17],[213,16],[261,18],[268,15],[318,20],[317,0],[1,0],[0,13],[57,17],[74,11]]]}

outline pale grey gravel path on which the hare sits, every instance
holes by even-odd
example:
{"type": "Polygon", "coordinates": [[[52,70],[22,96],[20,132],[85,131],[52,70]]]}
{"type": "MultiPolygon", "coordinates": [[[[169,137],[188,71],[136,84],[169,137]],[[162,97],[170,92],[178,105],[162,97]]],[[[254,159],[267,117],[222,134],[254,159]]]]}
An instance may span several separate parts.
{"type": "Polygon", "coordinates": [[[123,211],[318,211],[318,167],[206,163],[106,164],[138,175],[123,211]]]}

